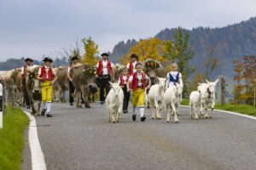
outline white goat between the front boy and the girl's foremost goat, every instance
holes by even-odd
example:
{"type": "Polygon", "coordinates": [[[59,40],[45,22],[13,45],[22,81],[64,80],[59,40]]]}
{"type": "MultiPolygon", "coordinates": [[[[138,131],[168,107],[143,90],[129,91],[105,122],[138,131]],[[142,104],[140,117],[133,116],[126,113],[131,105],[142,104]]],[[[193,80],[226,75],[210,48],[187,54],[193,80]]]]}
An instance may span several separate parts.
{"type": "Polygon", "coordinates": [[[158,79],[159,84],[154,84],[148,92],[148,101],[152,111],[152,119],[154,119],[155,115],[157,119],[161,119],[162,117],[160,111],[164,100],[166,78],[158,79]],[[156,109],[156,114],[154,114],[154,108],[156,109]]]}

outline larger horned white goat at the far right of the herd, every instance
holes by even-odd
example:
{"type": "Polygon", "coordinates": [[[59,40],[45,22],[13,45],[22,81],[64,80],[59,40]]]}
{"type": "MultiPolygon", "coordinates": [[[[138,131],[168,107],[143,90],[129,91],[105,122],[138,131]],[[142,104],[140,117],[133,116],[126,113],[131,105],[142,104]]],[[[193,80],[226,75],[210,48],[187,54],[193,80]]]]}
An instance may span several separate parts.
{"type": "MultiPolygon", "coordinates": [[[[206,80],[207,81],[207,80],[206,80]]],[[[205,108],[205,117],[208,118],[207,109],[211,106],[212,111],[210,118],[212,118],[212,113],[215,105],[215,87],[217,85],[218,79],[215,82],[201,83],[198,87],[198,90],[201,91],[202,96],[202,104],[201,104],[201,112],[202,112],[202,105],[205,108]]]]}

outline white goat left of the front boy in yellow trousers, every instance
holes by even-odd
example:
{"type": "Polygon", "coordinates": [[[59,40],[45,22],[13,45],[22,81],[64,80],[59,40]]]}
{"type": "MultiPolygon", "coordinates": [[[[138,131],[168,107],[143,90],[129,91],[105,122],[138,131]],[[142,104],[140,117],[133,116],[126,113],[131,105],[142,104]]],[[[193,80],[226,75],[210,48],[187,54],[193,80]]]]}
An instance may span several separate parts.
{"type": "Polygon", "coordinates": [[[119,122],[119,115],[123,111],[123,100],[124,92],[119,83],[109,82],[111,85],[111,90],[106,98],[106,105],[108,110],[108,122],[110,122],[110,117],[112,116],[112,122],[119,122]]]}

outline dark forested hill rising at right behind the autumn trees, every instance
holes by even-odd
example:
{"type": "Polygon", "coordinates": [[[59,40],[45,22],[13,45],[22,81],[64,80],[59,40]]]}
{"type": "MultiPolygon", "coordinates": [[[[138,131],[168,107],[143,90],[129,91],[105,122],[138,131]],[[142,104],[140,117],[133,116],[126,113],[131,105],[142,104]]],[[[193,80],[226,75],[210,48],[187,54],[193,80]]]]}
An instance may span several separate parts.
{"type": "MultiPolygon", "coordinates": [[[[155,37],[163,40],[172,40],[174,31],[174,28],[166,28],[157,33],[155,37]]],[[[195,48],[195,56],[190,63],[195,65],[198,71],[203,69],[201,62],[207,56],[207,48],[212,44],[217,45],[218,57],[222,67],[219,71],[214,72],[213,77],[219,74],[232,77],[234,74],[233,59],[241,58],[244,55],[256,54],[256,17],[222,28],[198,27],[187,31],[191,36],[190,42],[195,48]]],[[[111,59],[116,61],[123,54],[128,54],[129,49],[135,44],[135,40],[119,42],[114,46],[113,52],[110,54],[111,59]]]]}

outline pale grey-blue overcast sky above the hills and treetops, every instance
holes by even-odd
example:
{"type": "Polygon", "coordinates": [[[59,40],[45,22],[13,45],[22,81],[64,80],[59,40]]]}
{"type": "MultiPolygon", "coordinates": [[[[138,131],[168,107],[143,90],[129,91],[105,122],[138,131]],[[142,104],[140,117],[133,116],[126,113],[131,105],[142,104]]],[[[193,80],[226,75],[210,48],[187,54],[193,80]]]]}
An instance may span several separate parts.
{"type": "Polygon", "coordinates": [[[0,61],[55,57],[90,36],[102,53],[165,28],[222,27],[254,16],[255,0],[0,0],[0,61]]]}

